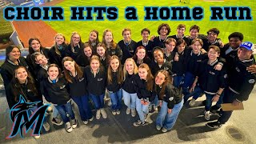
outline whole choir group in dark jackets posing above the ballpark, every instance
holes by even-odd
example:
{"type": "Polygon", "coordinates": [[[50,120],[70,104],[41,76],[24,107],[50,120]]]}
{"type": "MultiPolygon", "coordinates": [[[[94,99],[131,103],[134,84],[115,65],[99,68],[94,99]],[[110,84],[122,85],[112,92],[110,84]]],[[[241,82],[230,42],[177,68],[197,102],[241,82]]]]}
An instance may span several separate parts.
{"type": "MultiPolygon", "coordinates": [[[[224,45],[216,28],[203,35],[194,25],[187,37],[185,30],[180,24],[177,34],[169,37],[170,26],[163,23],[158,26],[159,36],[149,39],[150,30],[145,28],[142,41],[134,42],[126,28],[118,43],[111,30],[103,32],[102,42],[98,31],[92,30],[86,43],[74,32],[69,45],[63,34],[56,34],[50,50],[43,48],[38,38],[30,38],[26,58],[17,46],[8,46],[1,74],[9,107],[18,102],[20,94],[30,102],[42,101],[44,96],[54,105],[52,122],[64,122],[66,131],[71,132],[78,125],[71,99],[78,105],[82,122],[88,124],[94,119],[90,100],[96,119],[107,118],[104,98],[109,95],[112,114],[121,113],[122,99],[126,114],[138,114],[134,126],[146,125],[149,111],[160,106],[156,129],[166,132],[174,126],[183,103],[193,96],[189,105],[194,106],[196,99],[206,94],[206,120],[210,114],[220,116],[206,125],[218,128],[232,114],[222,111],[220,104],[238,105],[248,99],[254,87],[254,45],[242,42],[239,32],[230,34],[229,43],[224,45]],[[212,102],[217,104],[211,107],[212,102]]],[[[43,127],[50,130],[46,120],[43,127]]]]}

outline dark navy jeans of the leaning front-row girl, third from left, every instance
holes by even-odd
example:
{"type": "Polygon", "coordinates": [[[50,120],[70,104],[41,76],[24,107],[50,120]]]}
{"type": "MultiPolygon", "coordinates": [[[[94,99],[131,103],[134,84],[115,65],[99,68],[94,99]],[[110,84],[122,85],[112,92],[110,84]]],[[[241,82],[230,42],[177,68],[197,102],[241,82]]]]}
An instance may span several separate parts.
{"type": "Polygon", "coordinates": [[[80,117],[82,121],[92,118],[92,113],[89,106],[89,98],[84,95],[82,97],[71,97],[74,102],[78,105],[80,117]]]}

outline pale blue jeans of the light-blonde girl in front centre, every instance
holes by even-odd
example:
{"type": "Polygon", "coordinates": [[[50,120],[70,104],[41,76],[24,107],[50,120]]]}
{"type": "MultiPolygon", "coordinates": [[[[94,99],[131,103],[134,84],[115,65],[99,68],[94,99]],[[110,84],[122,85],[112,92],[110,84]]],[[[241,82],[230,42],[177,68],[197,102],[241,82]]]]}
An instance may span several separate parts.
{"type": "Polygon", "coordinates": [[[123,101],[125,102],[125,105],[129,108],[129,109],[135,109],[136,107],[136,98],[137,98],[137,94],[130,94],[127,93],[126,90],[122,90],[122,95],[123,95],[123,101]]]}

